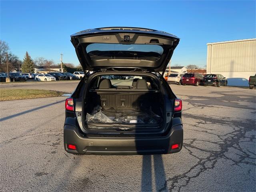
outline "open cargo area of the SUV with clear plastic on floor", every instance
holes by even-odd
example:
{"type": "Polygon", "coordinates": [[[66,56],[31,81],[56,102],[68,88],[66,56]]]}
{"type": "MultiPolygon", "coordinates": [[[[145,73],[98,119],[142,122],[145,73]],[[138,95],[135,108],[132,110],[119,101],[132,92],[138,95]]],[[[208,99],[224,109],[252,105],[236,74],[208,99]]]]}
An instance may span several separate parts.
{"type": "Polygon", "coordinates": [[[118,78],[121,85],[115,85],[116,77],[100,77],[87,92],[86,128],[161,128],[164,100],[154,82],[150,78],[118,78]]]}

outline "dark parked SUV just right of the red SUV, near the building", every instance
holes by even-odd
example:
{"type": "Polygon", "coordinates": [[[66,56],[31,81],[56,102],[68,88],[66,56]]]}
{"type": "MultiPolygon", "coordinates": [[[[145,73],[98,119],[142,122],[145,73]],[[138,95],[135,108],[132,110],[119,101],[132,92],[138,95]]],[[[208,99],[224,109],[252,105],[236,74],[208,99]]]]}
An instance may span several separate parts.
{"type": "Polygon", "coordinates": [[[220,87],[221,85],[227,86],[228,81],[221,74],[206,74],[204,76],[204,85],[214,85],[220,87]]]}

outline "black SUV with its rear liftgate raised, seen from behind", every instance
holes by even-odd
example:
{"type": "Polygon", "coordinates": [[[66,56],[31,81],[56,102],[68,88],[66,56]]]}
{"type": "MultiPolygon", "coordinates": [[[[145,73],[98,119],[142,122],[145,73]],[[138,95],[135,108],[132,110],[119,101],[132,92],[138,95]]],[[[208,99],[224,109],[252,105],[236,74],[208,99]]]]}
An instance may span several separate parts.
{"type": "Polygon", "coordinates": [[[66,99],[65,150],[73,154],[179,152],[182,101],[160,74],[179,40],[166,32],[128,27],[71,35],[80,64],[88,72],[66,99]]]}

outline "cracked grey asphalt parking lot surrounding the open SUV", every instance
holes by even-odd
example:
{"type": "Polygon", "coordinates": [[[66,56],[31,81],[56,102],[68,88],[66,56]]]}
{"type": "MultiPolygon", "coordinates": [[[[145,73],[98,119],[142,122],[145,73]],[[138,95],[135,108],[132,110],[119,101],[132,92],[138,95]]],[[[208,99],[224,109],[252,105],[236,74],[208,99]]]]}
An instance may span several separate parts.
{"type": "Polygon", "coordinates": [[[184,146],[167,155],[74,156],[63,146],[66,97],[1,102],[0,191],[255,191],[256,91],[170,86],[183,101],[184,146]]]}

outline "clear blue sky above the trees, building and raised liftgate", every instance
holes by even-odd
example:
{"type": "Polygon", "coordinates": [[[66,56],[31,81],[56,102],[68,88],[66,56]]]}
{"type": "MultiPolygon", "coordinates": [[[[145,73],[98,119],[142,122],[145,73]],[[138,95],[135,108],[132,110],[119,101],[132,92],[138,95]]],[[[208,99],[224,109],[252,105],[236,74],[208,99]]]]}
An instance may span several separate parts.
{"type": "Polygon", "coordinates": [[[181,38],[180,66],[206,65],[206,43],[256,37],[256,1],[2,1],[0,38],[12,53],[79,64],[70,35],[89,28],[135,26],[181,38]]]}

